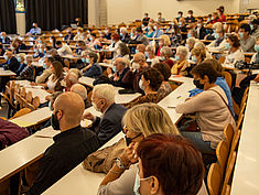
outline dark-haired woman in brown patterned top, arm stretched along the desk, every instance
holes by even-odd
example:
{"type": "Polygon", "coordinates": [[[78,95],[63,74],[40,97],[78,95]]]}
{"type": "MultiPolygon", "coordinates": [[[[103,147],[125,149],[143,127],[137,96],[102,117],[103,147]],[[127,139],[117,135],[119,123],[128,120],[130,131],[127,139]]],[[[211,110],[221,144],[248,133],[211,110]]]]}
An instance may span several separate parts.
{"type": "Polygon", "coordinates": [[[143,102],[159,102],[158,90],[163,82],[163,75],[155,68],[145,69],[142,73],[139,82],[139,87],[144,91],[144,96],[137,98],[134,101],[126,104],[127,108],[131,108],[134,105],[143,102]]]}

